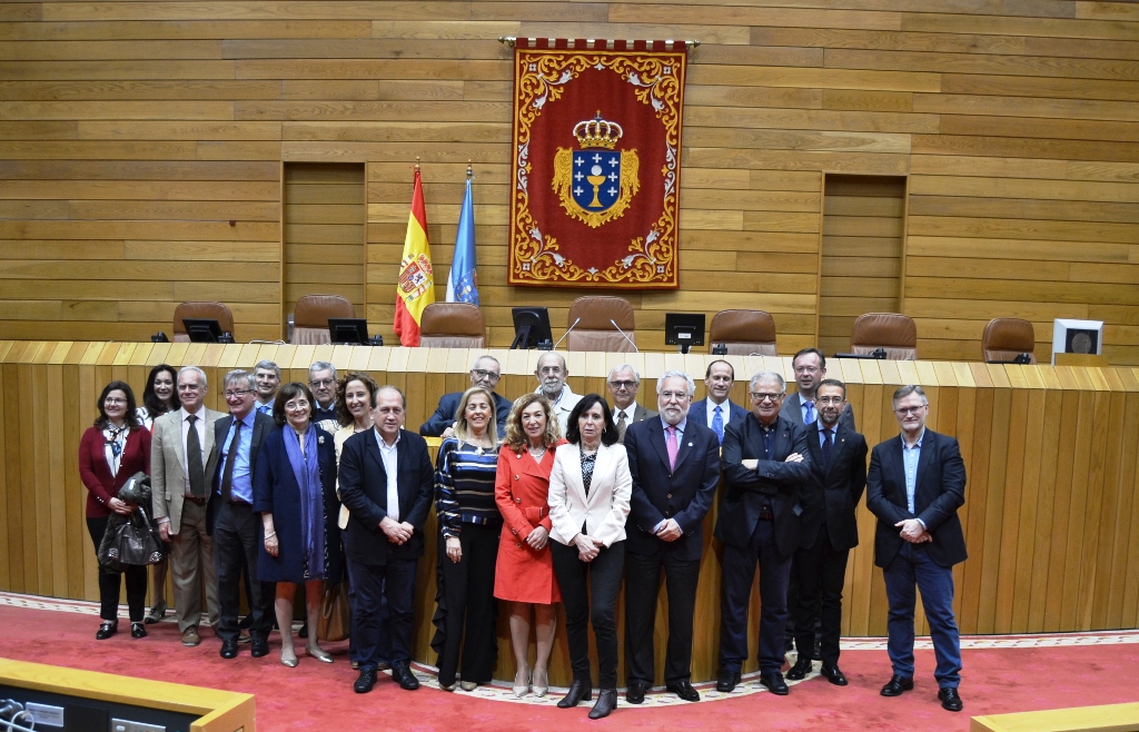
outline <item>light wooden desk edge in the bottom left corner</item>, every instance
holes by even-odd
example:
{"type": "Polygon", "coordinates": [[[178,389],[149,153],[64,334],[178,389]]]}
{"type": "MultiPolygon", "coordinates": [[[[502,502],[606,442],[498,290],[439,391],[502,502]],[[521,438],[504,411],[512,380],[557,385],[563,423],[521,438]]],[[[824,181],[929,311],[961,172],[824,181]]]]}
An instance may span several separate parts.
{"type": "Polygon", "coordinates": [[[197,715],[195,732],[254,732],[253,694],[0,658],[0,683],[197,715]],[[129,680],[130,683],[123,683],[129,680]],[[124,692],[129,689],[130,692],[124,692]]]}

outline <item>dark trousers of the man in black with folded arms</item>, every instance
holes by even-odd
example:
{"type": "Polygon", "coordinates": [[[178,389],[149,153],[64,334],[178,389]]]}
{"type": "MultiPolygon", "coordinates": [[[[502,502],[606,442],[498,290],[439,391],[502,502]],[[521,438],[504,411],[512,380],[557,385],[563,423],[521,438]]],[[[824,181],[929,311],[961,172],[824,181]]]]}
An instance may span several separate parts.
{"type": "Polygon", "coordinates": [[[759,521],[746,548],[723,545],[723,592],[720,602],[720,668],[739,671],[747,658],[747,603],[755,562],[760,562],[760,673],[782,668],[784,623],[790,557],[776,546],[775,525],[759,521]]]}

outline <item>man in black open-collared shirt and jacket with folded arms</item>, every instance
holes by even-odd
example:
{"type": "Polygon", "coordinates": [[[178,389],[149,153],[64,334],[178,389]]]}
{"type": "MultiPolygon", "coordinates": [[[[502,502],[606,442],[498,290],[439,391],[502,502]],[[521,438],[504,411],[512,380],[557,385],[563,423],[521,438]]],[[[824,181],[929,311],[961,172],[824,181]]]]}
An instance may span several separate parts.
{"type": "Polygon", "coordinates": [[[810,479],[806,430],[780,417],[787,394],[772,371],[752,377],[752,413],[732,421],[723,436],[724,496],[715,537],[723,542],[718,691],[731,691],[747,658],[747,603],[760,562],[760,683],[788,693],[784,664],[784,623],[790,559],[798,548],[798,492],[810,479]]]}

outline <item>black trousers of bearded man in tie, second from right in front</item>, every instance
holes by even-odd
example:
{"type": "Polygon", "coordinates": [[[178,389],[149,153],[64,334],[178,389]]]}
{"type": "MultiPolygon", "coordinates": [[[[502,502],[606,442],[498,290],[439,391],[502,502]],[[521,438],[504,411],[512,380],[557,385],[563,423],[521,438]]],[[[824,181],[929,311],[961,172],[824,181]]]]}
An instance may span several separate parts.
{"type": "Polygon", "coordinates": [[[838,664],[838,638],[843,623],[843,583],[850,550],[835,550],[823,525],[814,545],[795,552],[798,603],[795,607],[795,648],[800,657],[814,649],[816,620],[821,617],[819,647],[822,663],[838,664]]]}

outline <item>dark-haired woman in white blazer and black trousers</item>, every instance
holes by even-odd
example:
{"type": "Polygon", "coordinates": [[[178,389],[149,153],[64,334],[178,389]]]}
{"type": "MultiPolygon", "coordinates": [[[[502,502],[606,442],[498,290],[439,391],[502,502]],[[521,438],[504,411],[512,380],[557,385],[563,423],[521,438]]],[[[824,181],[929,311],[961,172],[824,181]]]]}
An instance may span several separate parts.
{"type": "Polygon", "coordinates": [[[616,606],[632,478],[613,413],[599,394],[588,394],[574,406],[566,438],[570,444],[554,458],[549,494],[550,552],[573,667],[573,684],[558,706],[575,707],[592,698],[587,627],[592,616],[601,693],[589,717],[599,719],[617,706],[616,606]]]}

